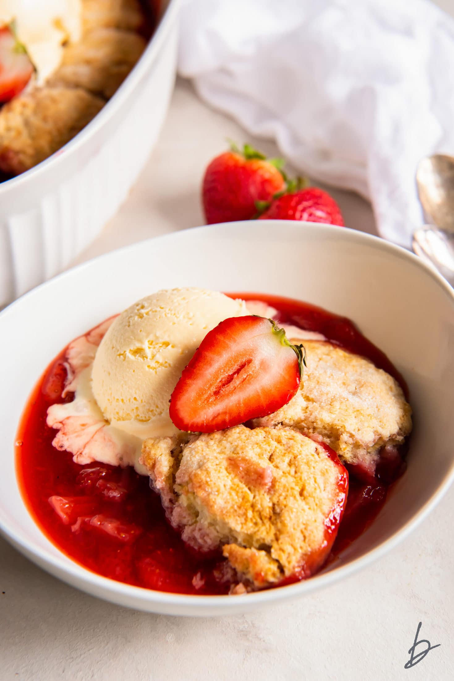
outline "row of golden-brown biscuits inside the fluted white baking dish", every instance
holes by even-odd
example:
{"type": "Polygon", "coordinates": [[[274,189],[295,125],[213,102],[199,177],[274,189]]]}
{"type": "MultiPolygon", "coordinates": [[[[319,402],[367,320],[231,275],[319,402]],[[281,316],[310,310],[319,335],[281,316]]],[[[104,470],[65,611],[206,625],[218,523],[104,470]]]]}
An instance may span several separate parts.
{"type": "Polygon", "coordinates": [[[80,41],[65,46],[44,86],[27,87],[1,108],[2,172],[30,170],[90,123],[141,57],[145,39],[133,31],[144,22],[138,0],[82,0],[80,41]]]}

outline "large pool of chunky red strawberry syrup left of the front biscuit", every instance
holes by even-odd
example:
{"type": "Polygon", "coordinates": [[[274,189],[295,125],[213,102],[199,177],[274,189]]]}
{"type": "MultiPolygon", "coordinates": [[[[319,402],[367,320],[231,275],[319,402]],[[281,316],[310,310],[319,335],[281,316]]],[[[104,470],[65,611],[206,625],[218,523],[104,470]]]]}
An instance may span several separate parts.
{"type": "Polygon", "coordinates": [[[52,446],[56,431],[46,425],[48,407],[73,399],[73,394],[61,397],[64,355],[35,386],[16,441],[22,496],[43,533],[80,565],[119,582],[175,593],[228,592],[230,584],[213,578],[217,561],[194,556],[169,526],[147,477],[130,466],[80,466],[71,454],[52,446]],[[60,502],[60,513],[56,497],[68,501],[60,502]],[[88,522],[93,517],[94,524],[88,522]],[[198,589],[192,585],[196,575],[198,583],[205,580],[198,589]]]}

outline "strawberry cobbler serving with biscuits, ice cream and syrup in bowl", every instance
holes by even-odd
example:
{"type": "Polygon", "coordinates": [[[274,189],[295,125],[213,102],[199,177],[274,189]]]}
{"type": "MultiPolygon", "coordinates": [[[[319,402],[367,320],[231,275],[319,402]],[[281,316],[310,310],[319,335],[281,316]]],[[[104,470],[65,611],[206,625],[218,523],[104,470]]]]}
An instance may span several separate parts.
{"type": "Polygon", "coordinates": [[[158,291],[71,341],[22,416],[22,495],[65,554],[197,595],[307,579],[404,473],[404,379],[304,302],[158,291]]]}

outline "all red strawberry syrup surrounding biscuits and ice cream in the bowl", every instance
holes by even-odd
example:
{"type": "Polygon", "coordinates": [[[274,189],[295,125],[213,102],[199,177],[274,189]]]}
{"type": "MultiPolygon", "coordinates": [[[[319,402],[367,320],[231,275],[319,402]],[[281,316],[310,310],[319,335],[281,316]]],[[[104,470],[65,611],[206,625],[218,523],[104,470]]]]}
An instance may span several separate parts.
{"type": "MultiPolygon", "coordinates": [[[[260,299],[273,305],[279,309],[279,321],[323,333],[340,347],[385,368],[405,387],[386,356],[348,319],[276,296],[234,294],[234,297],[260,299]]],[[[130,467],[120,469],[97,463],[80,466],[73,462],[71,454],[52,446],[55,430],[46,425],[48,407],[73,399],[73,394],[61,396],[66,378],[65,351],[55,358],[35,386],[18,428],[16,471],[31,516],[67,556],[105,577],[174,593],[228,593],[230,582],[223,583],[214,576],[214,572],[222,573],[225,561],[200,558],[184,545],[169,526],[160,498],[150,490],[147,477],[130,467]]],[[[349,471],[347,505],[328,561],[370,525],[385,503],[389,484],[403,470],[403,460],[400,466],[394,461],[389,469],[379,473],[382,481],[361,481],[355,478],[354,470],[349,471]]],[[[327,531],[332,539],[335,529],[327,531]]],[[[294,575],[283,584],[305,576],[294,575]]]]}

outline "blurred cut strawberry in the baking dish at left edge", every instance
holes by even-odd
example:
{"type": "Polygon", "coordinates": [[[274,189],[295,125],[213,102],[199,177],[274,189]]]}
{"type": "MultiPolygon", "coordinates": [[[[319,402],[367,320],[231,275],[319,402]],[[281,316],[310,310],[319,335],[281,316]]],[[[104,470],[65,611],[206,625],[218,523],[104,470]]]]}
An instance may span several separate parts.
{"type": "Polygon", "coordinates": [[[20,94],[34,71],[27,50],[18,41],[14,22],[0,26],[0,102],[20,94]]]}

